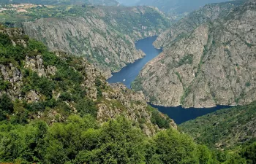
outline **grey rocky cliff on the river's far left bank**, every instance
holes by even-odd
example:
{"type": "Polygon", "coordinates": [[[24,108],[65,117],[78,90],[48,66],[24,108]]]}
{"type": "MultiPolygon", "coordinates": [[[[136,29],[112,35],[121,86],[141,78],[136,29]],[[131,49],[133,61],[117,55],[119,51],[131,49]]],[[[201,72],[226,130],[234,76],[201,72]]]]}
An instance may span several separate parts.
{"type": "Polygon", "coordinates": [[[159,34],[169,20],[151,7],[87,7],[75,17],[23,23],[26,34],[50,50],[86,56],[105,77],[145,55],[135,41],[159,34]]]}

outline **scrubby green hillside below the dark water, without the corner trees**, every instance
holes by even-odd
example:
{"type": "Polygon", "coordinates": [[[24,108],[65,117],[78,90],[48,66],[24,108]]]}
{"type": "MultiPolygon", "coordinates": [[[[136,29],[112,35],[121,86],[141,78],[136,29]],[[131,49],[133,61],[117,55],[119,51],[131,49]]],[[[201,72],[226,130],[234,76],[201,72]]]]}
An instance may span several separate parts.
{"type": "Polygon", "coordinates": [[[200,144],[219,149],[256,139],[256,103],[222,109],[180,125],[200,144]]]}

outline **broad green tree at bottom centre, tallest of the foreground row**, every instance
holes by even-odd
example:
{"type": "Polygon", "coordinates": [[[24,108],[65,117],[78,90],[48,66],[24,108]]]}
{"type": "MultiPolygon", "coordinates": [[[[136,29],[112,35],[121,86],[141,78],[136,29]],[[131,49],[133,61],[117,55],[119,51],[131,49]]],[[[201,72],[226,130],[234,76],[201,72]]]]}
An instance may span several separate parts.
{"type": "Polygon", "coordinates": [[[91,149],[81,151],[75,163],[145,163],[145,136],[124,117],[84,135],[91,139],[91,149]]]}

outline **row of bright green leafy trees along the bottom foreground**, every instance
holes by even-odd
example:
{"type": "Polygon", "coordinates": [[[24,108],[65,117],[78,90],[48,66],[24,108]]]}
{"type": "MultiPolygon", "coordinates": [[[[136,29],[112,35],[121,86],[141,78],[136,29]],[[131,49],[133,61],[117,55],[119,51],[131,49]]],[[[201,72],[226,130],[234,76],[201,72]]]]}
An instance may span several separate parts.
{"type": "Polygon", "coordinates": [[[43,121],[26,125],[2,122],[0,130],[0,162],[198,163],[202,158],[209,160],[209,156],[198,152],[200,147],[188,136],[169,129],[148,138],[123,117],[103,125],[89,115],[71,115],[67,122],[51,126],[43,121]]]}

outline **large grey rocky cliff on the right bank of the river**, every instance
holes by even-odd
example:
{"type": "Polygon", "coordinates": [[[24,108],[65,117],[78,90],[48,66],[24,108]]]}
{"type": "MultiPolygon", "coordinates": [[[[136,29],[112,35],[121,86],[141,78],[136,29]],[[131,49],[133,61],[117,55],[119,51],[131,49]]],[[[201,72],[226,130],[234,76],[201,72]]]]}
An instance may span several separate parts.
{"type": "Polygon", "coordinates": [[[208,107],[255,101],[255,1],[164,47],[133,88],[165,106],[208,107]]]}

